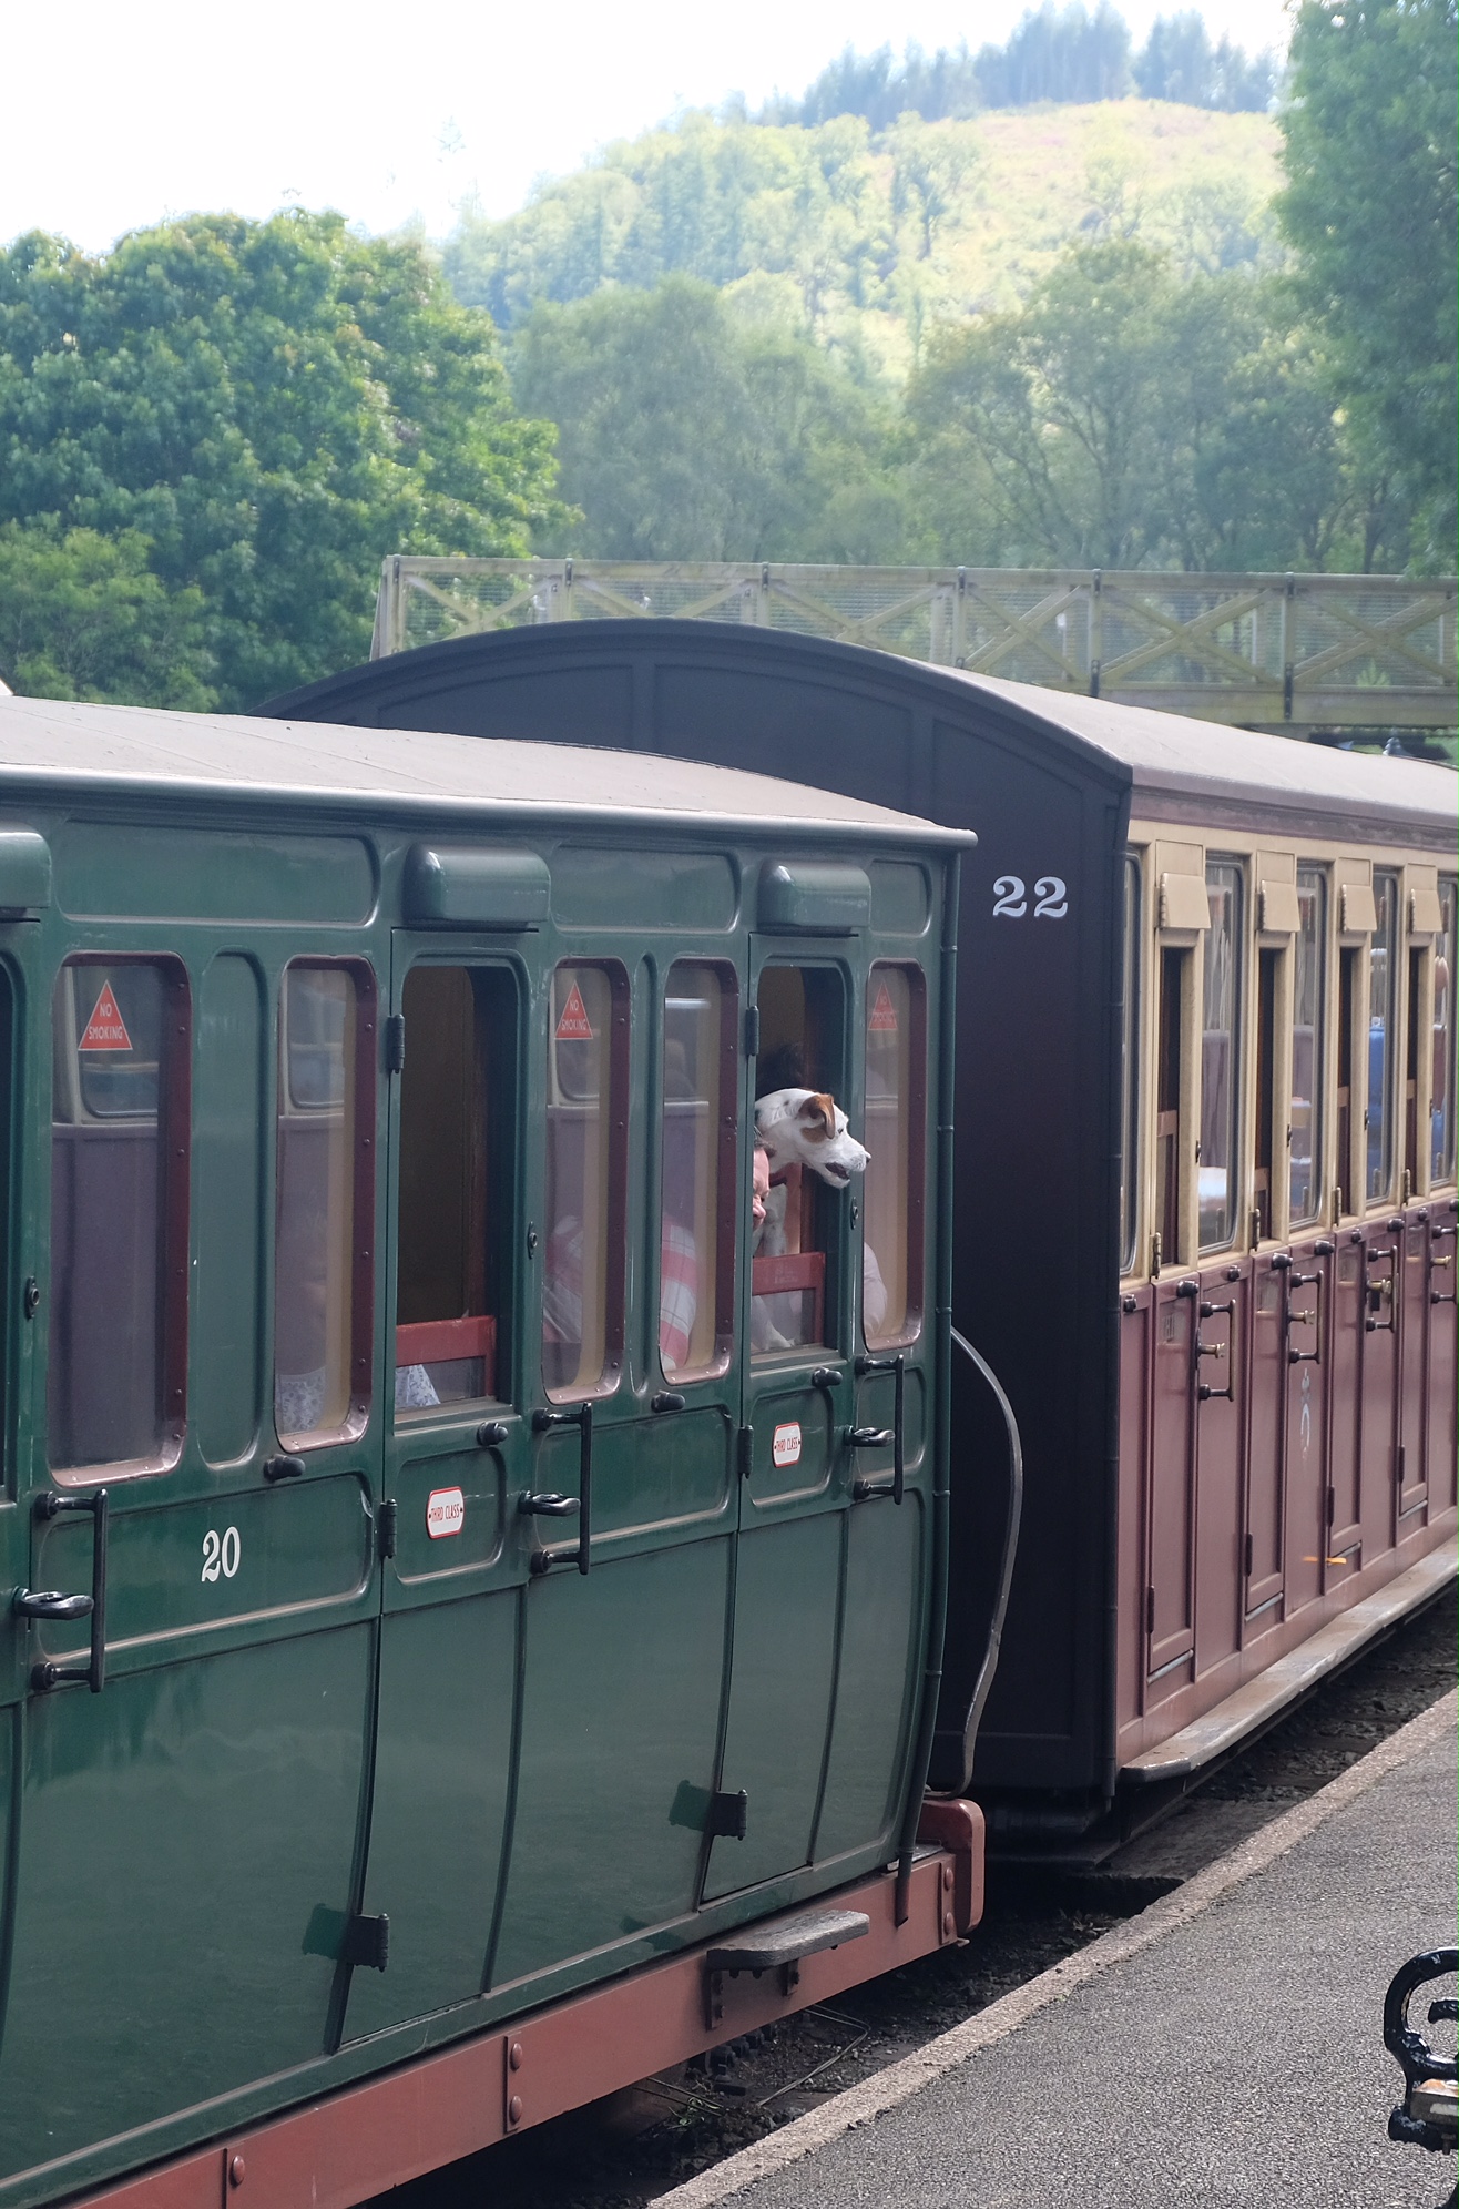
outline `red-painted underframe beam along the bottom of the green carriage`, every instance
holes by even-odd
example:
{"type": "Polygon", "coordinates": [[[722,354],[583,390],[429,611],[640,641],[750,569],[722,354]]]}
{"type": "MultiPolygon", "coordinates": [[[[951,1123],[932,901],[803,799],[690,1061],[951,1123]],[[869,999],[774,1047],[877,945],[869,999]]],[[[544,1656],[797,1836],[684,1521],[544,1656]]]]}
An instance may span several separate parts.
{"type": "MultiPolygon", "coordinates": [[[[965,1937],[982,1915],[982,1811],[927,1803],[905,1922],[896,1873],[786,1911],[865,1911],[870,1933],[781,1970],[722,1977],[724,2015],[704,2023],[704,1951],[574,1995],[457,2041],[364,2085],[241,2127],[152,2171],[84,2196],[77,2209],[353,2209],[388,2187],[492,2147],[720,2041],[832,2001],[850,1986],[965,1937]]],[[[775,1920],[766,1920],[766,1926],[775,1920]]],[[[722,1937],[722,1935],[720,1935],[722,1937]]]]}

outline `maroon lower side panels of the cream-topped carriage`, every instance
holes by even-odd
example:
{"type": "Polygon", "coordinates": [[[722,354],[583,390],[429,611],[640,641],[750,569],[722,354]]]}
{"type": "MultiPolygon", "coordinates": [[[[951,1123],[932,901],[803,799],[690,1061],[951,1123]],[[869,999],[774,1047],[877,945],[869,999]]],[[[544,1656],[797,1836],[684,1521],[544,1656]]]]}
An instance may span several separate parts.
{"type": "Polygon", "coordinates": [[[1459,1531],[1455,1224],[1410,1204],[1121,1299],[1119,1763],[1459,1531]]]}

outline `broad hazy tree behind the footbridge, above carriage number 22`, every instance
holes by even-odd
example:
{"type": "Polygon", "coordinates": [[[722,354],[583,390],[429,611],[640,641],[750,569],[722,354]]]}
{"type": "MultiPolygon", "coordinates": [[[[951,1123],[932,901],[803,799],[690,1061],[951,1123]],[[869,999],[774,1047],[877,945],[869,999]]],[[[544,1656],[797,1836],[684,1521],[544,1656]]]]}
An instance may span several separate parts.
{"type": "Polygon", "coordinates": [[[1291,294],[1073,247],[1026,307],[940,329],[907,473],[925,552],[987,566],[1327,566],[1393,530],[1291,294]]]}

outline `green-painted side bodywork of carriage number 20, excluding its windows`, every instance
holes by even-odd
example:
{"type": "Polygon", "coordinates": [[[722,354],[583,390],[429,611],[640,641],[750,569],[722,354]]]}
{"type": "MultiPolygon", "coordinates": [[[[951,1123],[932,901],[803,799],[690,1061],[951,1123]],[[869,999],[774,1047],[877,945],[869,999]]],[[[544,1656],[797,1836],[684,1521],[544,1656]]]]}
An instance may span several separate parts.
{"type": "MultiPolygon", "coordinates": [[[[7,1606],[0,1635],[0,2209],[99,2185],[834,1889],[896,1853],[920,1783],[923,1672],[940,1635],[947,1138],[934,1120],[951,1049],[956,853],[890,831],[843,846],[775,822],[706,820],[697,837],[660,842],[611,815],[592,833],[581,820],[532,835],[483,822],[481,848],[510,864],[426,868],[424,903],[417,864],[408,906],[411,850],[459,846],[461,822],[391,822],[382,806],[342,802],[336,822],[316,806],[305,826],[278,802],[236,795],[128,802],[38,786],[20,808],[18,826],[53,855],[55,895],[29,919],[0,919],[9,1588],[90,1586],[90,1518],[35,1513],[57,1491],[51,1001],[68,956],[183,961],[192,1113],[181,1456],[60,1484],[108,1487],[104,1690],[31,1685],[42,1657],[84,1661],[86,1621],[38,1626],[7,1606]],[[757,906],[777,866],[792,890],[757,906]],[[406,912],[428,926],[404,926],[406,912]],[[291,959],[340,956],[369,961],[380,992],[371,1412],[360,1434],[302,1451],[302,1476],[269,1482],[280,976],[291,959]],[[481,1405],[393,1414],[400,1082],[384,1029],[422,959],[492,970],[514,1007],[499,1124],[512,1144],[514,1257],[488,1440],[481,1405]],[[534,1542],[572,1542],[574,1526],[519,1509],[525,1489],[578,1482],[578,1431],[532,1425],[547,1405],[543,1085],[563,959],[616,961],[631,1012],[625,1354],[594,1403],[587,1577],[569,1564],[534,1575],[534,1542]],[[834,1089],[852,1129],[865,1109],[867,970],[923,968],[927,1319],[905,1345],[901,1509],[852,1498],[852,1482],[887,1478],[892,1458],[843,1442],[854,1420],[892,1423],[890,1376],[856,1370],[852,1195],[837,1197],[826,1345],[746,1354],[755,1065],[744,1051],[735,1345],[722,1372],[682,1385],[682,1407],[653,1409],[662,1005],[675,959],[733,970],[739,1021],[766,963],[834,972],[845,1012],[834,1089]],[[790,1469],[773,1456],[788,1423],[801,1429],[790,1469]],[[461,1491],[461,1533],[430,1540],[426,1500],[441,1489],[461,1491]],[[380,1537],[384,1502],[393,1546],[380,1537]],[[203,1577],[207,1540],[230,1531],[236,1571],[203,1577]],[[737,1789],[746,1838],[715,1838],[711,1800],[737,1789]],[[384,1970],[344,1959],[360,1913],[391,1920],[384,1970]]],[[[35,846],[26,864],[38,881],[35,846]]]]}

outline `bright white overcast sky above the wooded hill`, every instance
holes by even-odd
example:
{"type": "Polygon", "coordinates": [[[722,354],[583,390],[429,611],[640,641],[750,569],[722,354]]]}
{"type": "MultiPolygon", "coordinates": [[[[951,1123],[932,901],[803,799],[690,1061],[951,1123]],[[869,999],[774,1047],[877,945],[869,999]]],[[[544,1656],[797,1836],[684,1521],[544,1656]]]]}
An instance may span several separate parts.
{"type": "MultiPolygon", "coordinates": [[[[1126,0],[1143,38],[1181,0],[1126,0]]],[[[519,208],[675,106],[799,93],[848,42],[1004,40],[1024,0],[68,0],[0,7],[0,241],[55,230],[90,250],[192,208],[340,208],[366,230],[464,199],[519,208]]],[[[1212,35],[1282,46],[1280,0],[1207,0],[1212,35]]]]}

